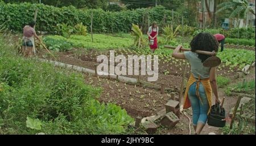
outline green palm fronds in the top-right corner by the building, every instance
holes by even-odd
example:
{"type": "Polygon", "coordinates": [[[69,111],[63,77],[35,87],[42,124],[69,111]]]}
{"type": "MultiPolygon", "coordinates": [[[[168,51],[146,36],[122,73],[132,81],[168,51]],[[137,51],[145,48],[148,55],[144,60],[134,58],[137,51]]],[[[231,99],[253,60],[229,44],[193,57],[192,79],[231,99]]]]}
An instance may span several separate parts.
{"type": "Polygon", "coordinates": [[[217,7],[219,9],[216,11],[216,13],[224,10],[233,10],[229,18],[235,18],[238,14],[241,14],[241,12],[245,17],[249,12],[255,15],[254,10],[250,7],[247,0],[230,0],[228,2],[220,3],[220,5],[217,7]]]}

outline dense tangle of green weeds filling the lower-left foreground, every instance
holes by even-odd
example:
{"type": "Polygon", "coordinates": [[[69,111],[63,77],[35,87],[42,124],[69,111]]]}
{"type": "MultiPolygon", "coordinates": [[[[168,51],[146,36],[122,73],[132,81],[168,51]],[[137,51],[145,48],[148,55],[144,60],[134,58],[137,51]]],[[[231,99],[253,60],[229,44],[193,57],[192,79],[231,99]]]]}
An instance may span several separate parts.
{"type": "Polygon", "coordinates": [[[127,134],[133,119],[98,102],[101,89],[84,84],[82,74],[24,59],[4,41],[0,37],[0,134],[127,134]]]}

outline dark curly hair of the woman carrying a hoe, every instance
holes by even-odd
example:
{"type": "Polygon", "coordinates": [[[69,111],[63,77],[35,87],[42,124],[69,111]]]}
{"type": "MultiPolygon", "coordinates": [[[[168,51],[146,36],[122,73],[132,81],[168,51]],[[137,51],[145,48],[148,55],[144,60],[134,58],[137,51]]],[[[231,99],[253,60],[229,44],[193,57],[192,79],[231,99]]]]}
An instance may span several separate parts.
{"type": "MultiPolygon", "coordinates": [[[[193,37],[189,45],[191,47],[192,52],[196,52],[196,50],[208,51],[208,52],[218,51],[217,39],[213,35],[209,34],[208,32],[201,32],[200,34],[193,37]]],[[[201,62],[204,62],[210,56],[199,54],[198,57],[201,60],[201,62]]]]}

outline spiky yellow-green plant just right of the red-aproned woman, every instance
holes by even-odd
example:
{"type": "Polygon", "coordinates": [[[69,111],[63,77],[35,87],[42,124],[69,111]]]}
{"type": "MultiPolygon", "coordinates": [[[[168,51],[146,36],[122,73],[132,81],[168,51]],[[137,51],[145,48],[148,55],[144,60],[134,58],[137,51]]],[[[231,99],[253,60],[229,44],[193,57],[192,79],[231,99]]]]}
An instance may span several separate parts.
{"type": "Polygon", "coordinates": [[[166,27],[162,28],[163,30],[162,36],[164,37],[166,44],[169,44],[171,40],[174,40],[174,38],[177,36],[179,32],[179,28],[180,28],[180,25],[177,26],[174,30],[174,27],[172,25],[170,26],[169,24],[166,27]]]}

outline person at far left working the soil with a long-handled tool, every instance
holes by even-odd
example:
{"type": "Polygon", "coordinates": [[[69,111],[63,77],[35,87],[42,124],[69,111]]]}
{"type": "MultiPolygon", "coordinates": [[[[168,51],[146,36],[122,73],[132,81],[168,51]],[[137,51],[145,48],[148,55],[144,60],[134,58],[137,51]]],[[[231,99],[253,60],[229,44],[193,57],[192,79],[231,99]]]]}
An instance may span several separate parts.
{"type": "Polygon", "coordinates": [[[32,21],[23,28],[22,53],[28,57],[35,54],[35,41],[33,36],[35,36],[36,39],[41,41],[38,35],[36,35],[34,26],[35,22],[32,21]]]}

